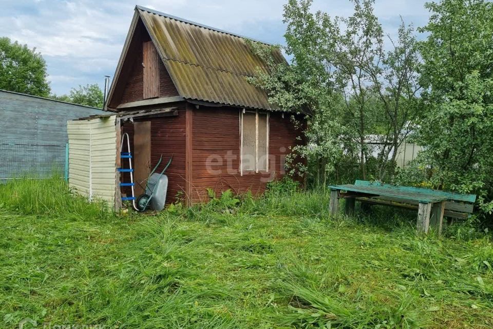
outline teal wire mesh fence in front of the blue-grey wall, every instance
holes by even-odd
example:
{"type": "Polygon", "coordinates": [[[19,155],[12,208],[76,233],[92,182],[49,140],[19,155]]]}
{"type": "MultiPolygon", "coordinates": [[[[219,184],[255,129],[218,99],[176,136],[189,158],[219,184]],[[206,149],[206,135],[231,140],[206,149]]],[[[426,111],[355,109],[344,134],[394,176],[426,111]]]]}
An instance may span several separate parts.
{"type": "Polygon", "coordinates": [[[16,177],[68,179],[68,143],[0,139],[0,182],[16,177]]]}

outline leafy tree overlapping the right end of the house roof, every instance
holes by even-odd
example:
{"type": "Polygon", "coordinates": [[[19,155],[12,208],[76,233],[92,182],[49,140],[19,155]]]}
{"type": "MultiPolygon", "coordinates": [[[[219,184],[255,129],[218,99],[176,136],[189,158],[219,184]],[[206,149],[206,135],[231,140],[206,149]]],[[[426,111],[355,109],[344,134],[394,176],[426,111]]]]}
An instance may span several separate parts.
{"type": "Polygon", "coordinates": [[[340,104],[341,99],[335,92],[336,44],[332,38],[339,32],[329,15],[313,14],[310,6],[310,0],[290,0],[284,6],[287,45],[283,50],[292,57],[290,65],[275,63],[270,49],[252,44],[268,63],[269,72],[259,71],[258,78],[250,82],[266,89],[270,101],[279,109],[301,112],[307,117],[304,133],[310,146],[300,145],[293,150],[307,161],[294,170],[306,172],[306,165],[311,166],[315,180],[325,186],[327,173],[334,172],[337,160],[343,155],[339,136],[344,127],[335,115],[335,104],[340,104]]]}

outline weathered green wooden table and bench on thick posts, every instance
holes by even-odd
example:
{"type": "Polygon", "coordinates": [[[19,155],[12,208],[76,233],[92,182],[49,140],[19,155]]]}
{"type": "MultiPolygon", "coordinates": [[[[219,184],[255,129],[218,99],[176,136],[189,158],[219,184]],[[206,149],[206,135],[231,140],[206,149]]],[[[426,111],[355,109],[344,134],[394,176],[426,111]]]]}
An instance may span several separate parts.
{"type": "Polygon", "coordinates": [[[366,180],[356,180],[354,184],[348,185],[332,185],[329,189],[332,215],[337,215],[340,198],[346,199],[346,214],[354,212],[356,200],[362,204],[418,209],[416,227],[424,233],[428,233],[431,225],[440,234],[444,216],[467,218],[476,201],[474,194],[394,186],[366,180]]]}

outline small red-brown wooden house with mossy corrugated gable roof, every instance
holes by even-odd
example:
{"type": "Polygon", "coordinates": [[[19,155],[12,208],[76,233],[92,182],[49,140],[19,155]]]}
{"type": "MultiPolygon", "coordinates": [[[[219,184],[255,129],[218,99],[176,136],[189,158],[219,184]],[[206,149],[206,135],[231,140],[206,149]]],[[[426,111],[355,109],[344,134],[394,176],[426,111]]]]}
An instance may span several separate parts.
{"type": "MultiPolygon", "coordinates": [[[[274,58],[285,61],[279,51],[274,58]]],[[[206,201],[208,188],[258,194],[281,178],[300,132],[293,114],[274,111],[247,81],[258,70],[266,64],[247,38],[137,6],[105,106],[118,146],[130,136],[136,180],[173,156],[166,202],[191,204],[206,201]]]]}

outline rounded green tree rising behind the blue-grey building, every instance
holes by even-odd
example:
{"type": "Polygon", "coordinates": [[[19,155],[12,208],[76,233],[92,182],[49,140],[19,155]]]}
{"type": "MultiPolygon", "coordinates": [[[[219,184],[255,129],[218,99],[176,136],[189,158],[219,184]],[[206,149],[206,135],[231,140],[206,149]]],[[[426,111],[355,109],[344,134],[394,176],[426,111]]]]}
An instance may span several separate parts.
{"type": "Polygon", "coordinates": [[[0,89],[48,97],[46,62],[36,48],[0,38],[0,89]]]}

